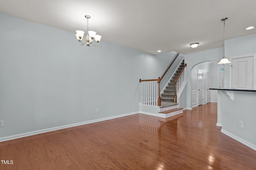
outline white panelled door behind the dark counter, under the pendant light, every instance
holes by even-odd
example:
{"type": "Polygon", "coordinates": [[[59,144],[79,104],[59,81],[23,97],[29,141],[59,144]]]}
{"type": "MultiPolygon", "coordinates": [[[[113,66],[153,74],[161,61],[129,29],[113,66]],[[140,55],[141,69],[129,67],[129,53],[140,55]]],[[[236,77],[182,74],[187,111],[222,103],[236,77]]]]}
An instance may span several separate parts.
{"type": "Polygon", "coordinates": [[[253,57],[232,59],[231,88],[253,89],[253,57]]]}

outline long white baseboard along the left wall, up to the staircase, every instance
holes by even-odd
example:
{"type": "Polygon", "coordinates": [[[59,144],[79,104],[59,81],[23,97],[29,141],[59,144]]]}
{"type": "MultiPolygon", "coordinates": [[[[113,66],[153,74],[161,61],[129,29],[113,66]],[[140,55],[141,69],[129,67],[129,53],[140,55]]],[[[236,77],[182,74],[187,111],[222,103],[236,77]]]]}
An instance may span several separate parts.
{"type": "Polygon", "coordinates": [[[12,140],[12,139],[18,139],[18,138],[22,138],[22,137],[28,137],[28,136],[37,135],[37,134],[40,134],[40,133],[46,133],[46,132],[50,132],[50,131],[56,131],[56,130],[60,130],[60,129],[66,129],[66,128],[69,128],[69,127],[75,127],[75,126],[86,125],[86,124],[90,124],[90,123],[96,123],[96,122],[99,122],[99,121],[115,119],[115,118],[118,118],[118,117],[134,115],[134,114],[137,114],[137,113],[139,113],[139,111],[132,112],[132,113],[126,113],[126,114],[122,114],[122,115],[111,116],[111,117],[105,117],[105,118],[102,118],[102,119],[95,119],[95,120],[84,121],[84,122],[80,122],[80,123],[74,123],[74,124],[70,124],[70,125],[52,127],[52,128],[48,128],[48,129],[42,129],[42,130],[39,130],[39,131],[32,131],[32,132],[22,133],[22,134],[18,134],[18,135],[1,137],[0,142],[9,141],[9,140],[12,140]]]}

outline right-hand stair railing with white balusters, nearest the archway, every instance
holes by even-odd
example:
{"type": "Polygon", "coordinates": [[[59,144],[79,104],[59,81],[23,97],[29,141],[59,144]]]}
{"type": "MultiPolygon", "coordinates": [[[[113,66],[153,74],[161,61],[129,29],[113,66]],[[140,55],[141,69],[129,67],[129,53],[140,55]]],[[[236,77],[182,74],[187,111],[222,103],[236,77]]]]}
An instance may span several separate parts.
{"type": "Polygon", "coordinates": [[[186,68],[187,64],[185,63],[182,70],[180,71],[180,74],[178,77],[174,80],[175,83],[175,96],[174,96],[174,103],[177,103],[177,95],[180,96],[180,93],[182,92],[185,83],[186,82],[186,68]]]}

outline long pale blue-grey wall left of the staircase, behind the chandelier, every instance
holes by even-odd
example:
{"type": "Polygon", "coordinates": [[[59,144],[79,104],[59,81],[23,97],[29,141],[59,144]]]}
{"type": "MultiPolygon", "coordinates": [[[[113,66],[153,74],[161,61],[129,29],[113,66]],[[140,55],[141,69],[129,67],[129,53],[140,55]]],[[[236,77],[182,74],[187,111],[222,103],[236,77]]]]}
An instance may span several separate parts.
{"type": "Polygon", "coordinates": [[[152,55],[104,37],[97,47],[80,46],[75,33],[1,13],[0,21],[0,141],[138,113],[139,79],[161,76],[176,55],[152,55]]]}

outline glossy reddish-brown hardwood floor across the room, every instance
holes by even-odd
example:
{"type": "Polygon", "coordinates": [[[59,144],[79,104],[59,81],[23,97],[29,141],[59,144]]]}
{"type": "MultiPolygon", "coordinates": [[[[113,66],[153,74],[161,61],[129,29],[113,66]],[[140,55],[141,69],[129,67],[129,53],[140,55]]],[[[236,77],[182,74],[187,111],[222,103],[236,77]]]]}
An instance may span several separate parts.
{"type": "Polygon", "coordinates": [[[0,170],[256,170],[256,151],[220,132],[217,104],[135,114],[0,143],[0,170]]]}

